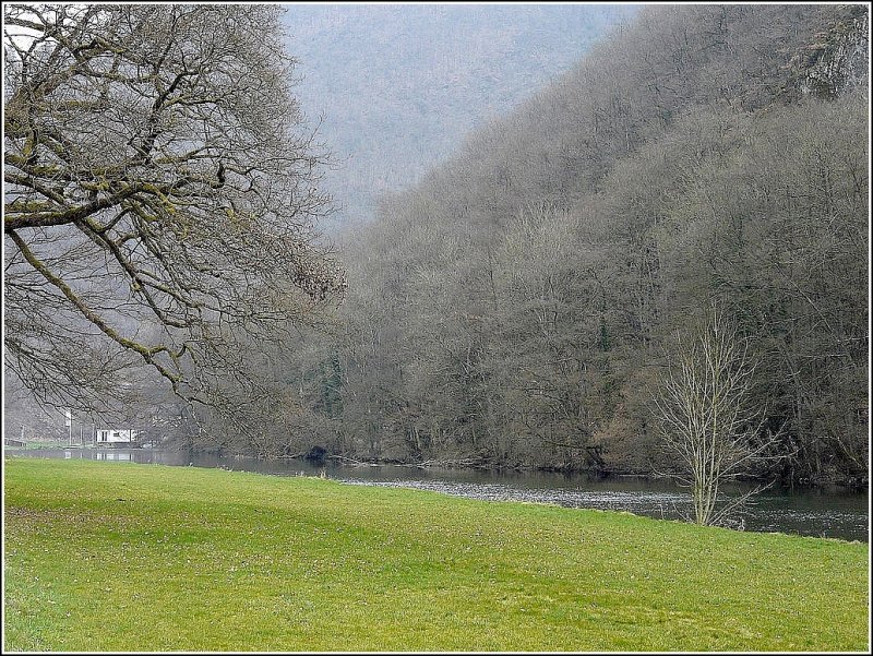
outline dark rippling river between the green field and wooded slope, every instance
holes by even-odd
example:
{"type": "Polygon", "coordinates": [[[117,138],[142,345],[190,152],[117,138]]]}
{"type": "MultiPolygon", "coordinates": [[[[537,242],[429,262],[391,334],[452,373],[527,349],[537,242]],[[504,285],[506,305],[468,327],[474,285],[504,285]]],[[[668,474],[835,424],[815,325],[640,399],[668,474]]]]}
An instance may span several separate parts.
{"type": "MultiPolygon", "coordinates": [[[[393,465],[347,466],[302,460],[258,460],[152,449],[10,449],[7,457],[84,458],[258,472],[276,476],[326,476],[355,485],[409,487],[492,501],[533,501],[570,508],[621,510],[638,515],[681,518],[691,508],[686,489],[667,479],[636,476],[594,478],[584,474],[418,468],[393,465]]],[[[726,494],[751,486],[736,484],[726,494]]],[[[782,490],[756,496],[743,517],[746,530],[870,541],[869,492],[840,488],[782,490]]]]}

